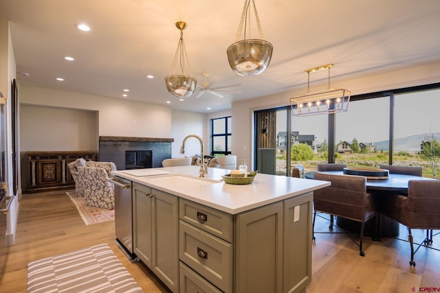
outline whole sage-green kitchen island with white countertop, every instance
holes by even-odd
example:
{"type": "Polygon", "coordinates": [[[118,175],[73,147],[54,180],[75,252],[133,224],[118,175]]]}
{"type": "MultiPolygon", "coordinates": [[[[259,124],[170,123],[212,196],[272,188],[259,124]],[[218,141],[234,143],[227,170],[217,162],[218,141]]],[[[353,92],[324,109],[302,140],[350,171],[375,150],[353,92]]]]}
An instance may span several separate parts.
{"type": "Polygon", "coordinates": [[[313,191],[330,183],[257,174],[230,185],[230,171],[199,178],[196,166],[136,172],[114,172],[132,183],[134,252],[171,291],[305,292],[313,191]]]}

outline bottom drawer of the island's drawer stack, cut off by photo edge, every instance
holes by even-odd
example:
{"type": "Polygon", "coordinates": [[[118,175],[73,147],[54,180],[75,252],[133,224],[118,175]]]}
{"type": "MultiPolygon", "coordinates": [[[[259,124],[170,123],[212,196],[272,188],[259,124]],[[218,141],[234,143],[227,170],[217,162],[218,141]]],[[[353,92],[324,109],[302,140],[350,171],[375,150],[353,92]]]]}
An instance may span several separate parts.
{"type": "Polygon", "coordinates": [[[180,293],[221,293],[214,285],[200,277],[197,272],[180,262],[180,293]]]}

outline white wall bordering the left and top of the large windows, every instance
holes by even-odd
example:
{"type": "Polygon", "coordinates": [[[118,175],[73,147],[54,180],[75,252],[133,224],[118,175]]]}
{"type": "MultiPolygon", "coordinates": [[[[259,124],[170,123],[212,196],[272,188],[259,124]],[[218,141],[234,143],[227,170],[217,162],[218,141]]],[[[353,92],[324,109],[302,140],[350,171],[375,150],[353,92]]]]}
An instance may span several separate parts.
{"type": "MultiPolygon", "coordinates": [[[[435,82],[440,82],[440,62],[372,75],[367,78],[333,81],[331,85],[334,88],[349,89],[351,95],[360,95],[435,82]]],[[[289,98],[303,94],[305,89],[307,88],[233,103],[231,109],[232,154],[236,154],[237,158],[246,159],[246,162],[249,162],[248,168],[253,170],[255,166],[252,161],[254,111],[289,106],[289,98]]]]}

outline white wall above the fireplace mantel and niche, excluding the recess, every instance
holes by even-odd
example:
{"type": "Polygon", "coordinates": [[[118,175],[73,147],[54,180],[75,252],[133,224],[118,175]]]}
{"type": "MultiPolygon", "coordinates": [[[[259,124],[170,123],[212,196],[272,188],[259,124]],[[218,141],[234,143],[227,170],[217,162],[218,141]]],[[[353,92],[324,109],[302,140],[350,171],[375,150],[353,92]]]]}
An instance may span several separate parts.
{"type": "Polygon", "coordinates": [[[169,106],[56,91],[26,84],[20,84],[19,95],[21,104],[98,111],[100,136],[172,137],[169,106]]]}

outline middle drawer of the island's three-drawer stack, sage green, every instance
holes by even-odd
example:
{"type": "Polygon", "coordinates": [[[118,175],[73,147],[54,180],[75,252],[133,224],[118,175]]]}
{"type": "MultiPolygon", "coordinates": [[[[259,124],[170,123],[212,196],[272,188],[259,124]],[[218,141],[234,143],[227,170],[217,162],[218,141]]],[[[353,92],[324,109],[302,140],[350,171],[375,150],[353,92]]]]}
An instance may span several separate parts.
{"type": "Polygon", "coordinates": [[[233,246],[180,220],[179,258],[224,292],[232,292],[233,246]]]}

